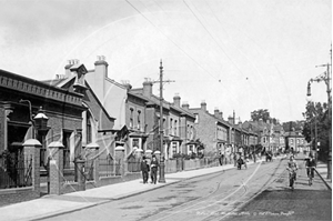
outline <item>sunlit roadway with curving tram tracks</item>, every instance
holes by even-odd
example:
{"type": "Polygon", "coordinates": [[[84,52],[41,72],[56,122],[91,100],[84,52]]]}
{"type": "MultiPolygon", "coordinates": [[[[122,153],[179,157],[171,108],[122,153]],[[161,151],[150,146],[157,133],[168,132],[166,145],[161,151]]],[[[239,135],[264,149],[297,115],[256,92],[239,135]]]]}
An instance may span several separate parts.
{"type": "MultiPolygon", "coordinates": [[[[154,191],[57,215],[48,220],[157,221],[221,220],[223,218],[239,220],[239,217],[234,218],[226,214],[233,214],[236,208],[251,200],[261,190],[274,187],[274,183],[281,182],[285,171],[285,160],[274,160],[273,162],[251,164],[248,169],[232,169],[183,180],[154,191]]],[[[319,185],[324,189],[323,184],[319,185]]],[[[72,200],[91,199],[73,198],[72,200]]],[[[263,207],[261,210],[266,211],[269,209],[263,207]]],[[[248,218],[243,217],[243,219],[246,220],[248,218]]]]}

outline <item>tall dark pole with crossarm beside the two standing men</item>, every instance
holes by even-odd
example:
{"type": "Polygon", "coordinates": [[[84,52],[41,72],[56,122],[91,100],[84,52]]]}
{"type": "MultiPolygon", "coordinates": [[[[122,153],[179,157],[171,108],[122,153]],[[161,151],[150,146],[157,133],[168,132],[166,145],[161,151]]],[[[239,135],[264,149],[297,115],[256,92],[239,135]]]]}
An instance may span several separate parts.
{"type": "Polygon", "coordinates": [[[162,66],[162,59],[160,61],[160,80],[159,81],[153,81],[153,83],[160,83],[160,179],[159,182],[164,183],[165,178],[164,178],[164,152],[162,152],[163,148],[163,83],[170,83],[174,82],[171,80],[163,80],[163,66],[162,66]]]}

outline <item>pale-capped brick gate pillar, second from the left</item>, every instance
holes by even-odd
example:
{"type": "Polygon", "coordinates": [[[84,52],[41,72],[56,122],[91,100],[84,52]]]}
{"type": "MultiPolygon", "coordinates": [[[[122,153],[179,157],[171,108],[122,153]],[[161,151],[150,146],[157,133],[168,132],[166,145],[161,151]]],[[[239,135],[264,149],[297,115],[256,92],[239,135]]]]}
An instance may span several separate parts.
{"type": "Polygon", "coordinates": [[[63,182],[63,144],[59,141],[51,142],[49,149],[49,180],[50,194],[61,194],[61,185],[63,182]]]}

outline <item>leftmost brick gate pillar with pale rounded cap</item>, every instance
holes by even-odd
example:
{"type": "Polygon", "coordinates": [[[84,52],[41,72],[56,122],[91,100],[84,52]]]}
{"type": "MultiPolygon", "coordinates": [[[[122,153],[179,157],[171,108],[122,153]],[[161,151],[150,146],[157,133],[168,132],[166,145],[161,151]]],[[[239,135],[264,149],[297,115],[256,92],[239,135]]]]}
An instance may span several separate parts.
{"type": "Polygon", "coordinates": [[[24,168],[27,171],[31,169],[32,187],[37,198],[40,197],[40,148],[41,143],[34,139],[23,143],[24,168]]]}

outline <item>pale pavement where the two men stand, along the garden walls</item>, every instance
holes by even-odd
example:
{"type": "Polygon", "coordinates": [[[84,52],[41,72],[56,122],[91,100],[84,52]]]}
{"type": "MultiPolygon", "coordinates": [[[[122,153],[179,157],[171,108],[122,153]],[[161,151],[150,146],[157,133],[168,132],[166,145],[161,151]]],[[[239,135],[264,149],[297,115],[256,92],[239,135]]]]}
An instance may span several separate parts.
{"type": "MultiPolygon", "coordinates": [[[[258,162],[260,161],[263,160],[259,160],[258,162]]],[[[249,162],[248,164],[252,163],[253,162],[249,162]]],[[[103,204],[112,200],[120,200],[143,192],[152,191],[158,188],[163,188],[165,185],[180,182],[184,179],[196,178],[230,169],[234,169],[233,164],[168,173],[165,174],[165,183],[143,184],[142,179],[138,179],[128,182],[89,189],[85,191],[71,192],[62,195],[46,195],[40,199],[0,208],[0,221],[47,219],[57,214],[70,213],[98,204],[103,204]]],[[[324,178],[327,174],[326,164],[320,163],[317,165],[317,172],[324,178]]],[[[330,187],[331,184],[332,190],[332,182],[327,180],[326,182],[329,182],[327,187],[330,187]]]]}

